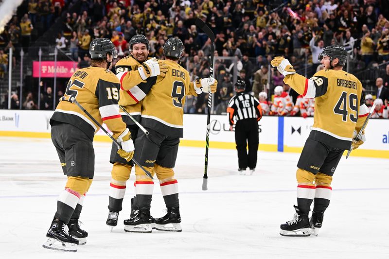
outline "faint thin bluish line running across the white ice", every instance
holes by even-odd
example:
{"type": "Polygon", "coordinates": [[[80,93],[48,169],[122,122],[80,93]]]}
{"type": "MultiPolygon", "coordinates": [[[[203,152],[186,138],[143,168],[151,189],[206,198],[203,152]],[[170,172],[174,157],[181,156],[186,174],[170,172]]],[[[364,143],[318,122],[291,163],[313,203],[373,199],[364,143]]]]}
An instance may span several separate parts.
{"type": "MultiPolygon", "coordinates": [[[[389,188],[356,188],[356,189],[336,189],[333,191],[366,191],[366,190],[389,190],[389,188]]],[[[268,193],[268,192],[295,192],[296,190],[220,190],[220,191],[187,191],[180,192],[179,194],[229,194],[229,193],[268,193]]],[[[156,192],[154,194],[161,194],[156,192]]],[[[46,198],[57,197],[59,194],[44,194],[44,195],[20,195],[20,196],[0,196],[0,199],[12,199],[12,198],[46,198]]],[[[100,194],[88,194],[88,196],[107,196],[108,193],[100,194]]]]}

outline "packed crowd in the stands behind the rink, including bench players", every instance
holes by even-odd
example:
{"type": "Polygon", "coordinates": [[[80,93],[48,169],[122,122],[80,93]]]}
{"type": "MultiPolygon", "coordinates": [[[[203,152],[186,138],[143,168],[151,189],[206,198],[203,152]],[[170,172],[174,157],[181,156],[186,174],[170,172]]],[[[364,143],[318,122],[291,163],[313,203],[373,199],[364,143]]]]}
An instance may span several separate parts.
{"type": "MultiPolygon", "coordinates": [[[[119,59],[129,54],[133,35],[145,35],[151,43],[150,56],[157,58],[163,58],[164,42],[178,37],[185,46],[181,65],[191,80],[210,72],[211,42],[195,26],[195,19],[201,18],[216,36],[214,71],[219,84],[213,107],[217,114],[226,111],[234,80],[241,79],[246,92],[269,106],[269,115],[313,116],[314,103],[285,85],[283,75],[269,66],[276,55],[288,58],[307,77],[321,69],[318,55],[332,44],[349,51],[350,72],[389,62],[386,0],[82,0],[74,13],[67,10],[70,2],[29,0],[28,14],[15,16],[0,35],[0,70],[6,71],[7,48],[28,46],[37,23],[48,28],[61,14],[62,31],[53,35],[52,44],[78,60],[79,66],[88,66],[89,43],[97,37],[110,38],[119,59]],[[275,92],[276,86],[283,91],[275,92]]],[[[380,99],[383,110],[389,109],[388,67],[381,75],[383,88],[376,83],[364,93],[380,99]]],[[[207,98],[188,97],[185,112],[206,113],[207,98]]],[[[383,118],[387,113],[381,114],[383,118]]]]}

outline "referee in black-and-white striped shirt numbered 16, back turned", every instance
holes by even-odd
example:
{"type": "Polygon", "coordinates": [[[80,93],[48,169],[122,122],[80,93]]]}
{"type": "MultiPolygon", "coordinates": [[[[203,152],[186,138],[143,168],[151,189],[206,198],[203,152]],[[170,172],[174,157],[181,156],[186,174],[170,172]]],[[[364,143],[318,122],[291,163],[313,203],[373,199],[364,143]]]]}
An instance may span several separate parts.
{"type": "Polygon", "coordinates": [[[236,95],[231,98],[227,112],[230,119],[230,131],[235,124],[235,143],[238,150],[239,173],[251,175],[257,165],[258,121],[262,118],[262,108],[258,99],[245,93],[246,83],[238,80],[235,83],[236,95]],[[248,144],[248,153],[247,153],[248,144]],[[250,169],[246,173],[247,167],[250,169]]]}

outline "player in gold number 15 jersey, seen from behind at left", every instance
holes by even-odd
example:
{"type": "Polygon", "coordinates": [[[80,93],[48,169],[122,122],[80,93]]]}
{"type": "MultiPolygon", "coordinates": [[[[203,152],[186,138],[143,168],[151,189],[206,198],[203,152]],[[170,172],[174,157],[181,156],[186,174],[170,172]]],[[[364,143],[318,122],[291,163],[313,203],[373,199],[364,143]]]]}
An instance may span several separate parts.
{"type": "Polygon", "coordinates": [[[122,145],[118,153],[129,161],[134,153],[131,134],[119,114],[119,79],[109,70],[117,56],[109,39],[90,43],[91,66],[78,69],[69,80],[64,97],[50,120],[51,137],[62,170],[68,177],[59,195],[57,211],[46,234],[44,248],[76,252],[85,244],[88,233],[78,224],[83,201],[94,174],[93,137],[98,126],[76,105],[75,98],[100,124],[103,121],[122,145]],[[69,227],[69,232],[66,230],[69,227]]]}

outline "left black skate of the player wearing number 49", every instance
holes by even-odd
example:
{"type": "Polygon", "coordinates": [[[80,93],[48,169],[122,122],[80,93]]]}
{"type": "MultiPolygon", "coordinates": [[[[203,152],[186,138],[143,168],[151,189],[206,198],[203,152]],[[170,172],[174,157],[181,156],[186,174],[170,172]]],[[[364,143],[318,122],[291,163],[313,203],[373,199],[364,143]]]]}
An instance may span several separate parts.
{"type": "Polygon", "coordinates": [[[299,207],[294,206],[296,213],[293,220],[281,224],[280,235],[284,237],[309,237],[309,219],[308,213],[301,213],[299,207]]]}

